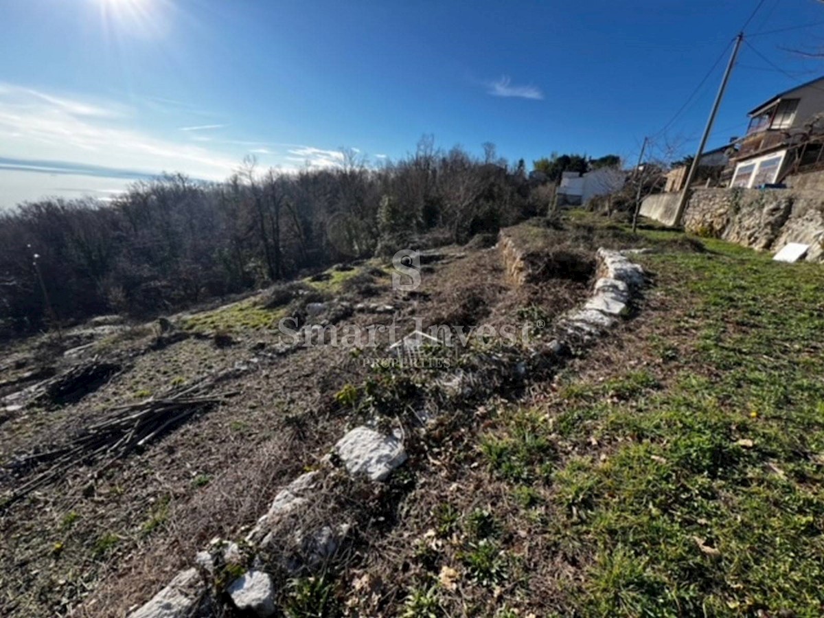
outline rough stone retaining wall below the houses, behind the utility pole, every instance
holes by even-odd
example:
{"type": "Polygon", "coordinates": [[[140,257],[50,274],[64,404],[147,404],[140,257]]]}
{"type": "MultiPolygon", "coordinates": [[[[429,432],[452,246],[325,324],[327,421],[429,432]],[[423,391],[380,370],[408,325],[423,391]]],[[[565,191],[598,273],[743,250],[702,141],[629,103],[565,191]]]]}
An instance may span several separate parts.
{"type": "MultiPolygon", "coordinates": [[[[651,195],[641,214],[672,225],[678,194],[651,195]]],[[[809,245],[807,260],[824,260],[824,193],[786,189],[698,189],[684,213],[684,229],[756,250],[809,245]]]]}

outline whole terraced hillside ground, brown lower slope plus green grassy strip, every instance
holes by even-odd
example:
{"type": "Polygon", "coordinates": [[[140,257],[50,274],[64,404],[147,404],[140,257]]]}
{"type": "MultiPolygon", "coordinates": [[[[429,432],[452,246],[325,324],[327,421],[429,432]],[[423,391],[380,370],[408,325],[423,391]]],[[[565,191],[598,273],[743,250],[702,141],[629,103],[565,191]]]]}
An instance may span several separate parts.
{"type": "Polygon", "coordinates": [[[2,613],[122,616],[214,537],[242,537],[377,415],[409,458],[385,484],[330,472],[311,497],[313,522],[349,527],[311,569],[289,576],[273,558],[289,616],[820,615],[820,267],[679,232],[636,237],[584,213],[504,233],[530,258],[520,284],[501,246],[478,242],[428,252],[412,292],[368,261],[169,324],[88,325],[66,335],[76,350],[59,362],[53,338],[8,349],[0,396],[37,384],[35,369],[111,371],[76,400],[44,387],[7,403],[7,499],[49,471],[44,453],[124,405],[194,410],[123,456],[82,452],[6,503],[2,613]],[[606,337],[548,366],[536,352],[587,297],[598,246],[649,249],[632,257],[642,296],[606,337]],[[522,336],[428,351],[450,371],[381,368],[364,360],[386,358],[388,339],[296,346],[274,327],[292,314],[403,334],[414,317],[513,324],[522,336]],[[421,410],[434,414],[425,431],[421,410]]]}

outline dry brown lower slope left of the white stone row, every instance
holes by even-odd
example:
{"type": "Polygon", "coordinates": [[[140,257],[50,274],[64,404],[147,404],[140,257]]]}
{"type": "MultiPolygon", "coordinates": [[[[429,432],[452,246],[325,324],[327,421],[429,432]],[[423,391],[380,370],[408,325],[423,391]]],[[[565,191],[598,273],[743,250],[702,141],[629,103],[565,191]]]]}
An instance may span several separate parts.
{"type": "MultiPolygon", "coordinates": [[[[400,333],[410,332],[416,317],[424,326],[548,323],[588,289],[587,282],[565,279],[515,289],[494,247],[439,250],[424,260],[414,293],[393,290],[387,270],[374,262],[315,279],[303,283],[307,298],[320,295],[325,313],[302,319],[394,323],[400,333]]],[[[343,435],[353,419],[341,414],[335,394],[363,381],[369,371],[363,358],[385,352],[290,347],[277,323],[297,306],[271,307],[268,294],[171,316],[171,328],[131,325],[91,335],[76,329],[82,336],[67,339],[87,348],[68,358],[61,349],[69,343],[60,347],[45,336],[4,351],[0,396],[36,383],[10,382],[44,365],[59,373],[97,357],[120,367],[74,403],[7,405],[0,413],[0,494],[7,496],[40,471],[16,469],[21,456],[59,447],[115,406],[162,399],[216,373],[234,373],[208,393],[218,405],[141,451],[113,462],[77,461],[59,480],[2,508],[0,614],[123,616],[190,565],[210,539],[236,536],[255,522],[280,487],[343,435]]],[[[383,346],[386,337],[379,335],[383,346]]]]}

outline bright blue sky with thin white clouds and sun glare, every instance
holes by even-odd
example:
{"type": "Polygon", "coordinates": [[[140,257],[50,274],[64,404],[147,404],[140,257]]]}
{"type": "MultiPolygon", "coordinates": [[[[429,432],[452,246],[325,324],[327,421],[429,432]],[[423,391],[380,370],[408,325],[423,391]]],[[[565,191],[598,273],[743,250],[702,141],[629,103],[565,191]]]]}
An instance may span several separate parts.
{"type": "MultiPolygon", "coordinates": [[[[0,0],[0,207],[160,171],[218,180],[247,154],[292,170],[353,147],[379,164],[424,133],[528,163],[632,162],[648,134],[691,152],[758,4],[0,0]]],[[[824,48],[824,3],[763,0],[747,31],[763,58],[742,48],[710,146],[824,75],[787,50],[824,48]]]]}

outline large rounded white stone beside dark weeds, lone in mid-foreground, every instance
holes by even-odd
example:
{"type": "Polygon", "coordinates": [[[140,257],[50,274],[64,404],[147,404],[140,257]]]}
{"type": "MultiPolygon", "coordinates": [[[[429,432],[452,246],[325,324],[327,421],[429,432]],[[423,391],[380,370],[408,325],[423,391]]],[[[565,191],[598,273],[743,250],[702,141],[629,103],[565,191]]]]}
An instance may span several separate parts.
{"type": "Polygon", "coordinates": [[[335,452],[351,475],[365,474],[384,480],[406,461],[404,445],[395,436],[384,436],[368,427],[356,427],[335,444],[335,452]]]}

